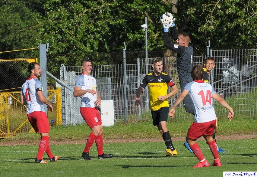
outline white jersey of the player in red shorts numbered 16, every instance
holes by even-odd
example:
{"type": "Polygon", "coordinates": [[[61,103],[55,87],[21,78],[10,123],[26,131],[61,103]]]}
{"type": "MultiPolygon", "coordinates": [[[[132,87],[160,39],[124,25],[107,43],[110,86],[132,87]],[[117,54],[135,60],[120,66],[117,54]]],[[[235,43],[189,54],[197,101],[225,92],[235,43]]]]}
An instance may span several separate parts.
{"type": "MultiPolygon", "coordinates": [[[[76,79],[75,87],[80,87],[81,90],[96,90],[97,81],[93,76],[87,76],[84,73],[78,76],[76,79]]],[[[95,101],[97,100],[97,94],[92,95],[92,93],[85,93],[81,96],[80,107],[97,107],[95,101]]]]}

